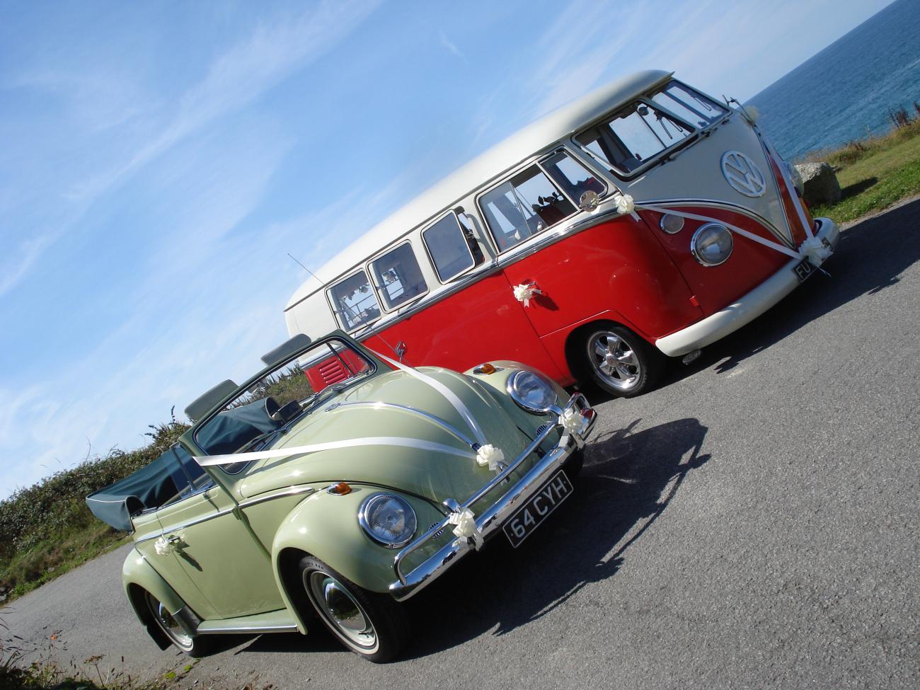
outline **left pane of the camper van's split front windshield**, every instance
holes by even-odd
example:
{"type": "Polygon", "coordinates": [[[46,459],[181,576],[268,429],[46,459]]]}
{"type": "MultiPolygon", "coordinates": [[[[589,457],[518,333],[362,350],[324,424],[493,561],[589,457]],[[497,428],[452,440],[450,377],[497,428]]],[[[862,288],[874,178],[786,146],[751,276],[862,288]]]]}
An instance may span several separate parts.
{"type": "Polygon", "coordinates": [[[637,100],[611,120],[581,132],[575,141],[595,160],[628,175],[692,133],[663,111],[637,100]]]}

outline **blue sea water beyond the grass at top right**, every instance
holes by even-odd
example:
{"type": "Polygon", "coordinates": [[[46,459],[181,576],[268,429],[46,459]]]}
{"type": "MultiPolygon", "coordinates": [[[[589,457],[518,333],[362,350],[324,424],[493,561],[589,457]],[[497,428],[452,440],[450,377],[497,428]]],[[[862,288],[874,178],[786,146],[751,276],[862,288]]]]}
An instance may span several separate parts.
{"type": "Polygon", "coordinates": [[[889,132],[889,109],[918,117],[920,0],[897,0],[748,103],[785,158],[889,132]]]}

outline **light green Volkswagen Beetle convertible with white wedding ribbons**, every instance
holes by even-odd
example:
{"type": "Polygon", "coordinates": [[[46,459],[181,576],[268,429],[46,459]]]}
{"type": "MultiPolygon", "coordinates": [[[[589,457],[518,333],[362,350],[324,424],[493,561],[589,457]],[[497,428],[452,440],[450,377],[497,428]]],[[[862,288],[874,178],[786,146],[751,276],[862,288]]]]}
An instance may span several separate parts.
{"type": "Polygon", "coordinates": [[[299,630],[392,659],[401,602],[572,491],[594,411],[515,362],[413,369],[335,332],[224,381],[150,466],[87,498],[133,531],[123,581],[156,642],[299,630]]]}

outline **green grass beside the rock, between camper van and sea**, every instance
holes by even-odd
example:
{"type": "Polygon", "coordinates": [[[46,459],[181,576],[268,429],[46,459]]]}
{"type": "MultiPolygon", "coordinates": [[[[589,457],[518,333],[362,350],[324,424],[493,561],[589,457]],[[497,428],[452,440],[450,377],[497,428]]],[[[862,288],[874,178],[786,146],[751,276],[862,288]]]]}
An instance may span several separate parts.
{"type": "Polygon", "coordinates": [[[851,142],[836,151],[809,155],[837,170],[843,198],[815,206],[812,215],[826,215],[836,224],[878,213],[902,199],[920,194],[920,118],[881,137],[851,142]]]}

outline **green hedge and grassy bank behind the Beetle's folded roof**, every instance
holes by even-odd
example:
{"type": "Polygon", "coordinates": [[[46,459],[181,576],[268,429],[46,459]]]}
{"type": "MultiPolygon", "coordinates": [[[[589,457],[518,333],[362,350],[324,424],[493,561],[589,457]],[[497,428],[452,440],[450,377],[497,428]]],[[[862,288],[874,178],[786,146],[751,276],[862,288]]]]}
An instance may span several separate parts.
{"type": "Polygon", "coordinates": [[[150,428],[151,442],[143,448],[87,457],[0,501],[0,601],[8,603],[125,542],[126,535],[89,512],[86,496],[154,460],[188,426],[173,417],[150,428]]]}

